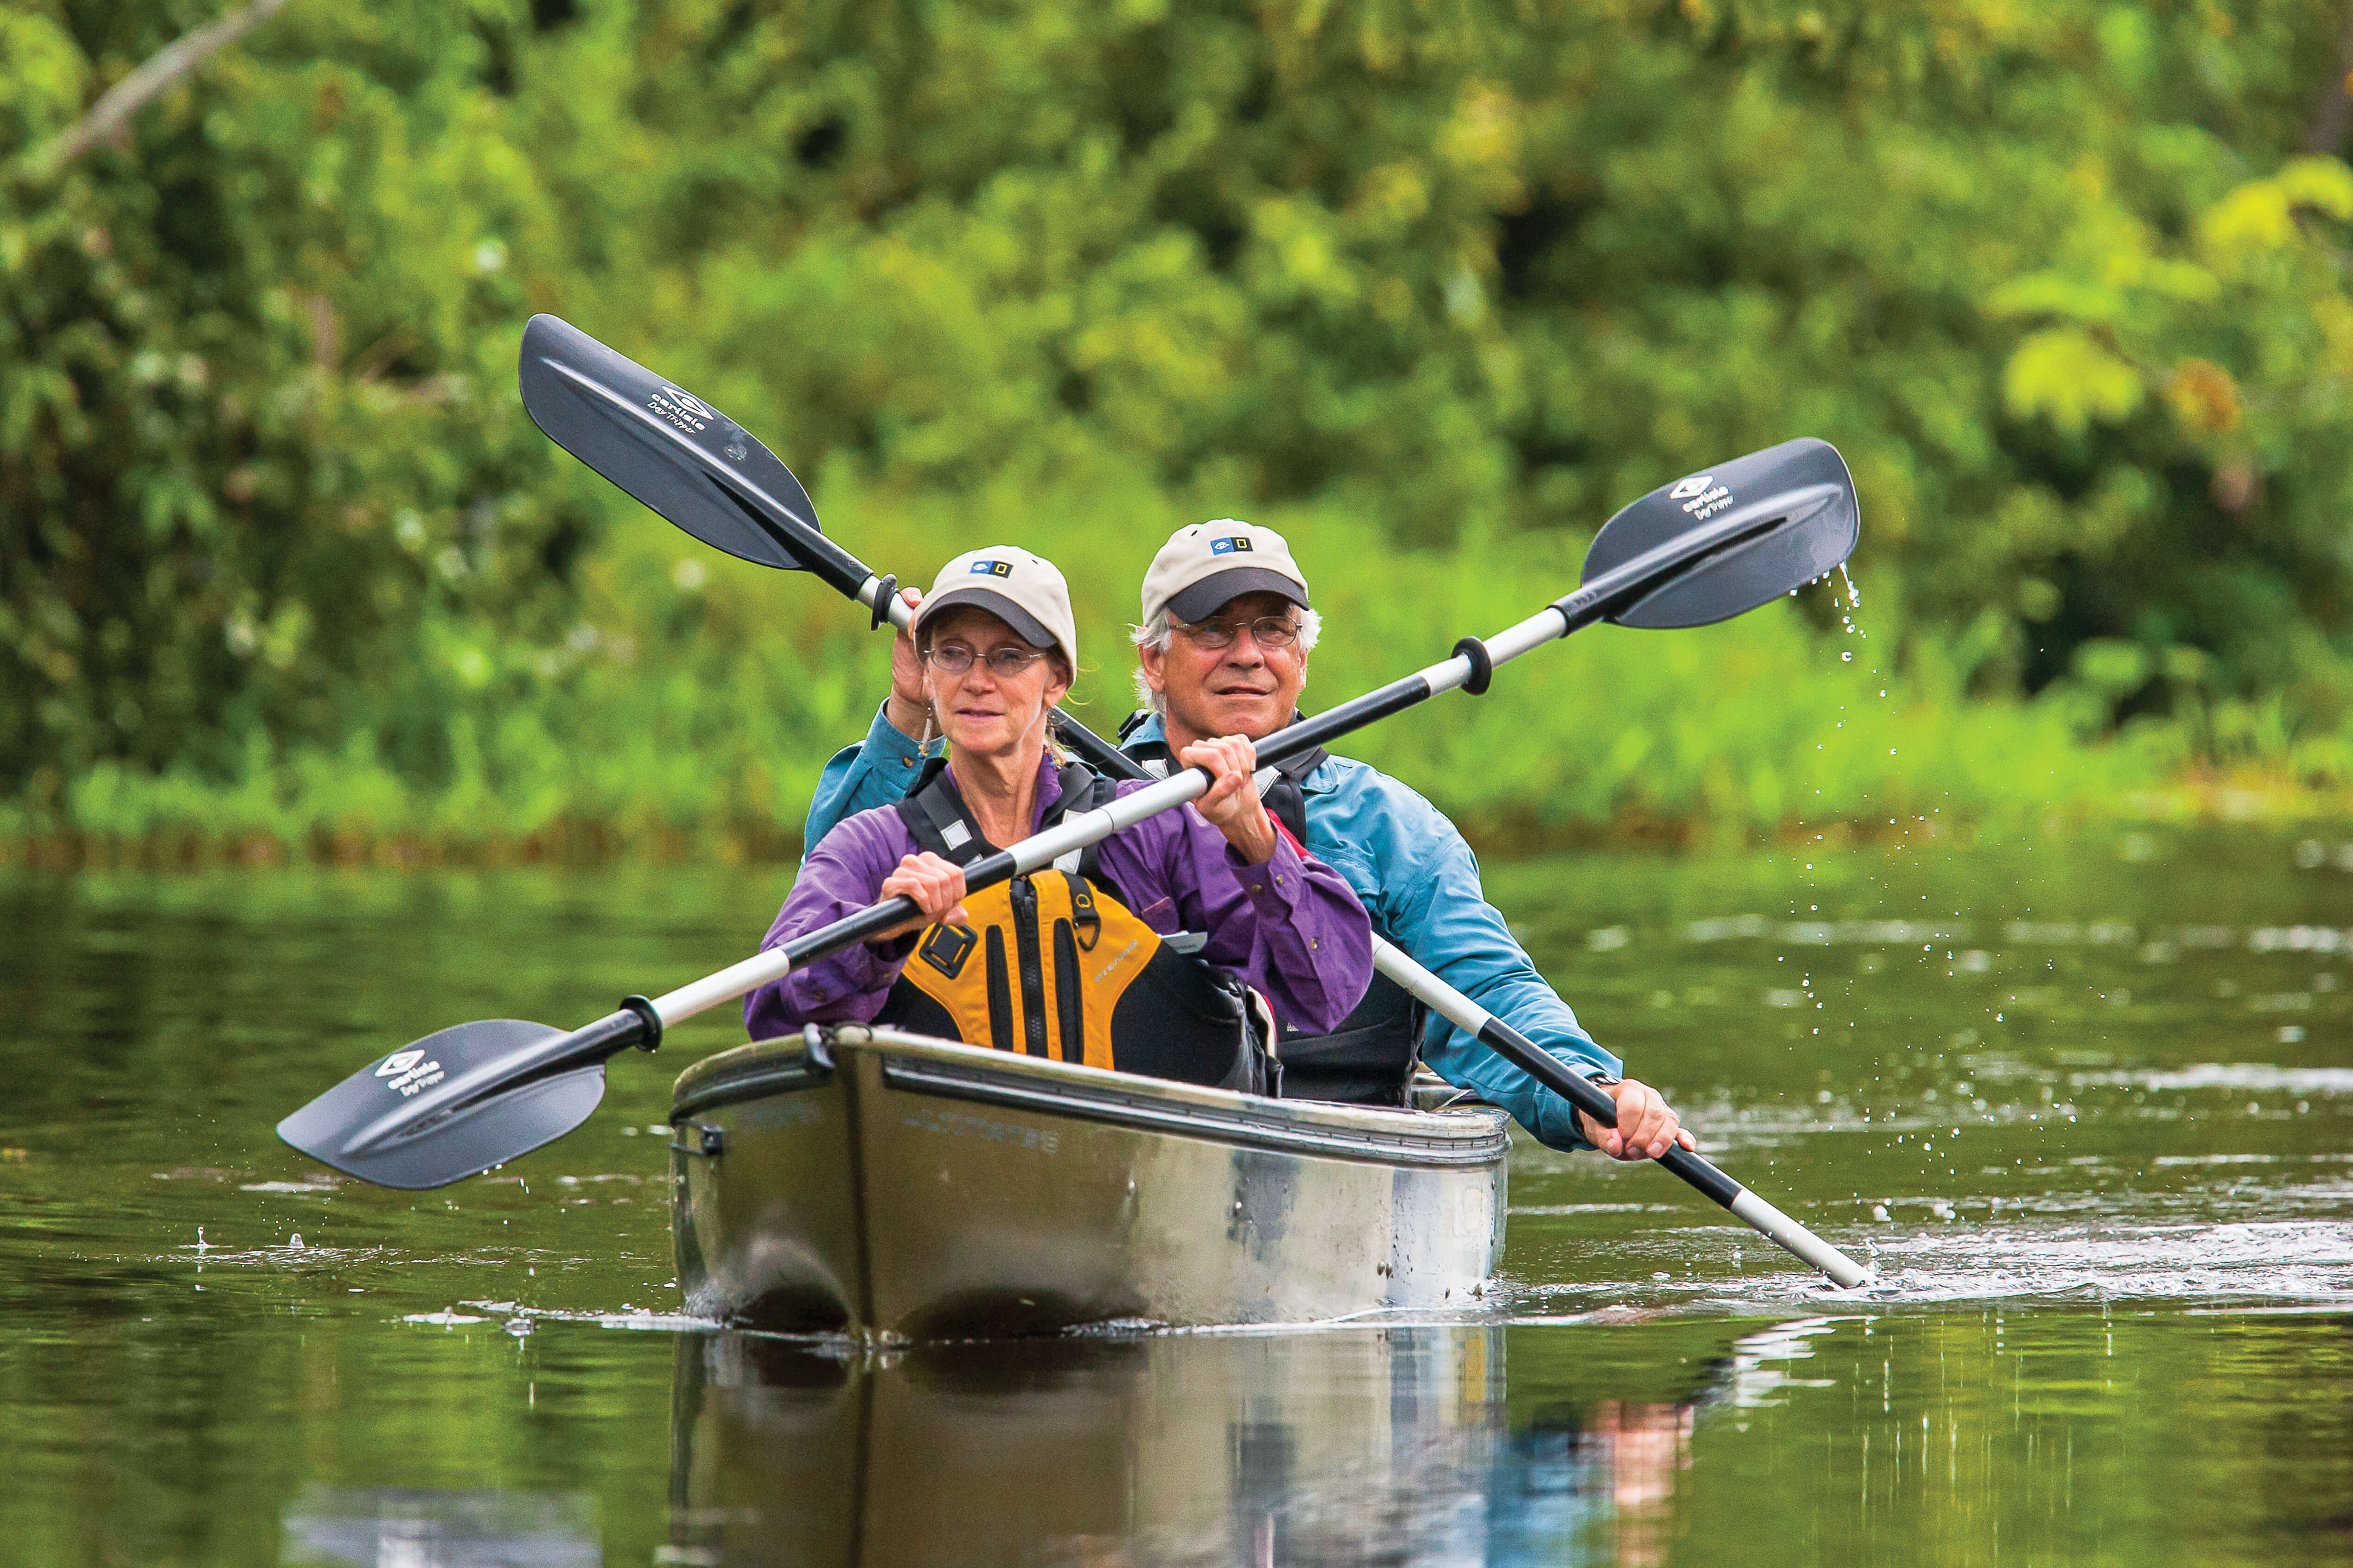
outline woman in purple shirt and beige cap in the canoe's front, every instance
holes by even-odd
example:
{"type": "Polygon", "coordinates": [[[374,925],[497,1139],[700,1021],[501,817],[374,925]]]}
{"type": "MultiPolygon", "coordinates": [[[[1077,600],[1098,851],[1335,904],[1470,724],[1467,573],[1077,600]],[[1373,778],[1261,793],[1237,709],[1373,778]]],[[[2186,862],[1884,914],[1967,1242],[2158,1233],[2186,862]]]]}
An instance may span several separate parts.
{"type": "Polygon", "coordinates": [[[1047,712],[1078,668],[1071,595],[1052,562],[1005,545],[955,557],[913,635],[948,757],[899,804],[826,835],[762,947],[899,893],[922,917],[746,997],[753,1039],[805,1023],[896,1023],[1000,1051],[1266,1088],[1268,1030],[1252,1030],[1235,976],[1301,1030],[1348,1016],[1372,978],[1365,910],[1268,818],[1242,736],[1181,755],[1214,776],[1193,804],[967,898],[967,863],[1146,785],[1113,785],[1049,757],[1047,712]],[[1207,933],[1198,959],[1162,940],[1179,931],[1207,933]]]}

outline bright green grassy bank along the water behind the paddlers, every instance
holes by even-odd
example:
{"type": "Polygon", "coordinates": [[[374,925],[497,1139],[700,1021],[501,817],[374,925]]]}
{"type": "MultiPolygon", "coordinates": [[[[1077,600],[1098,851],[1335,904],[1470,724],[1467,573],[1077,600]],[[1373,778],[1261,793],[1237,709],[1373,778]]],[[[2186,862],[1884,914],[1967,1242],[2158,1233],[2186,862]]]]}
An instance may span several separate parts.
{"type": "MultiPolygon", "coordinates": [[[[294,752],[273,750],[256,729],[242,764],[221,776],[101,764],[35,780],[0,806],[7,856],[795,853],[819,769],[856,741],[880,698],[880,639],[812,578],[711,555],[616,496],[605,503],[614,543],[591,564],[584,614],[560,637],[511,642],[452,621],[435,632],[431,670],[386,679],[386,693],[433,710],[438,745],[421,759],[386,757],[360,726],[334,750],[294,752]]],[[[1092,665],[1075,712],[1099,729],[1129,710],[1134,583],[1169,529],[1205,515],[1118,475],[1009,480],[976,498],[840,482],[819,489],[819,505],[849,548],[908,576],[1000,538],[1061,562],[1092,665]]],[[[1311,708],[1532,614],[1574,585],[1584,545],[1473,536],[1417,555],[1337,505],[1259,520],[1292,536],[1325,611],[1311,708]]],[[[1447,696],[1344,750],[1414,783],[1501,851],[1739,844],[1826,823],[2009,830],[2054,811],[2195,818],[2334,804],[2334,752],[2264,736],[2259,715],[2226,715],[2245,731],[2235,773],[2193,776],[2188,719],[2089,741],[2089,689],[1969,701],[1955,646],[1906,635],[1885,609],[1894,592],[1866,581],[1852,621],[1845,585],[1809,592],[1821,602],[1772,604],[1715,628],[1598,628],[1513,665],[1487,698],[1447,696]]],[[[402,729],[416,722],[414,708],[402,715],[402,729]]],[[[2212,729],[2214,715],[2205,722],[2212,729]]]]}

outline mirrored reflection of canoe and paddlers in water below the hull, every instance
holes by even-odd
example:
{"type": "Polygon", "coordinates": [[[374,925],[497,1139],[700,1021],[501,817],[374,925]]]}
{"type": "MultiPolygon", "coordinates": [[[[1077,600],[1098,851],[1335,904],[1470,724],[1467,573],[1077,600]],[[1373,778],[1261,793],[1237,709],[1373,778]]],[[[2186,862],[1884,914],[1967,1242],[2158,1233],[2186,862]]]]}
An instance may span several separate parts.
{"type": "Polygon", "coordinates": [[[889,1356],[680,1335],[673,1561],[1661,1563],[1722,1363],[1699,1378],[1588,1371],[1544,1345],[1560,1333],[932,1342],[889,1356]],[[1513,1342],[1537,1352],[1518,1375],[1513,1342]],[[1628,1399],[1628,1385],[1649,1396],[1628,1399]]]}

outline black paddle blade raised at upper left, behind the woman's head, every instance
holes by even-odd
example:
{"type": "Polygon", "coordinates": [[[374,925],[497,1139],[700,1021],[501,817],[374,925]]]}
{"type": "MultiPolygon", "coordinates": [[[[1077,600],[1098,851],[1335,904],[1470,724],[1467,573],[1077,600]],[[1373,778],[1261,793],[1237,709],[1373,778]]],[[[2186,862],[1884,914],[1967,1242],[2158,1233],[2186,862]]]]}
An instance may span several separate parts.
{"type": "Polygon", "coordinates": [[[809,569],[793,524],[821,529],[793,470],[744,425],[579,327],[534,315],[522,329],[522,407],[548,440],[706,545],[809,569]]]}

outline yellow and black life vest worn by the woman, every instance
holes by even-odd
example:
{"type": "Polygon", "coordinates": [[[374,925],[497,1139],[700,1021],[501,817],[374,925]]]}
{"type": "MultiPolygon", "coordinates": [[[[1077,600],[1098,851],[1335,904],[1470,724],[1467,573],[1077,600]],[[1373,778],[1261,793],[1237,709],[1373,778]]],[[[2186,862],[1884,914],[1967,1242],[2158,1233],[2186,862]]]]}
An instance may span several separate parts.
{"type": "MultiPolygon", "coordinates": [[[[944,771],[929,764],[899,802],[915,844],[960,865],[995,853],[944,771]]],[[[1111,790],[1082,764],[1066,766],[1045,825],[1111,790]]],[[[967,924],[922,929],[878,1023],[1181,1084],[1273,1091],[1249,990],[1136,919],[1092,856],[969,893],[965,914],[967,924]]]]}

